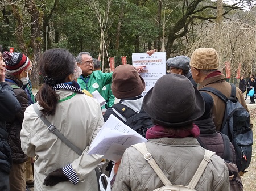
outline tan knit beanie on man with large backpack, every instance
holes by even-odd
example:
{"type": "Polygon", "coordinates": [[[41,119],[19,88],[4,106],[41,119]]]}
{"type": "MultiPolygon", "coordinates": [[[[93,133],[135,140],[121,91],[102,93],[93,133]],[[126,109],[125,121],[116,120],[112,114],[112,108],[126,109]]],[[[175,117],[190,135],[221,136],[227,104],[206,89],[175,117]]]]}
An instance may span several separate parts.
{"type": "Polygon", "coordinates": [[[213,70],[218,69],[218,53],[213,48],[198,48],[190,58],[190,66],[195,69],[213,70]]]}

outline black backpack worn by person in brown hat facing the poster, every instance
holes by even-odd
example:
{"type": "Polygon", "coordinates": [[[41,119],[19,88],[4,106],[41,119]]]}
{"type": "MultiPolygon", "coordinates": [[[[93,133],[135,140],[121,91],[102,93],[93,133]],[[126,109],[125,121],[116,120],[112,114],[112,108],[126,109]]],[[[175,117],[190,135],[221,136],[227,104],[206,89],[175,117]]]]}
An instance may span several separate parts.
{"type": "Polygon", "coordinates": [[[125,117],[127,121],[124,122],[127,126],[135,130],[143,137],[146,137],[147,129],[154,126],[151,118],[147,115],[147,113],[143,111],[143,108],[141,108],[139,113],[121,103],[114,104],[112,108],[114,108],[119,114],[125,117]]]}

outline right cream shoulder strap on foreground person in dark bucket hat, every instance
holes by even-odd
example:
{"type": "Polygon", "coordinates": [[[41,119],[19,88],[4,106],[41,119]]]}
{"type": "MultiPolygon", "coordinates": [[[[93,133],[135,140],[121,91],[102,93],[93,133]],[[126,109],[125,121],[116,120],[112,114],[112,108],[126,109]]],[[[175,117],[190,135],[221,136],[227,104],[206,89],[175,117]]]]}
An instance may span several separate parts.
{"type": "Polygon", "coordinates": [[[210,162],[210,158],[214,154],[215,154],[215,152],[205,149],[204,158],[201,161],[199,167],[197,168],[195,175],[192,177],[191,181],[189,182],[189,184],[188,184],[189,188],[194,189],[196,187],[200,177],[203,175],[205,168],[207,167],[208,163],[210,162]]]}

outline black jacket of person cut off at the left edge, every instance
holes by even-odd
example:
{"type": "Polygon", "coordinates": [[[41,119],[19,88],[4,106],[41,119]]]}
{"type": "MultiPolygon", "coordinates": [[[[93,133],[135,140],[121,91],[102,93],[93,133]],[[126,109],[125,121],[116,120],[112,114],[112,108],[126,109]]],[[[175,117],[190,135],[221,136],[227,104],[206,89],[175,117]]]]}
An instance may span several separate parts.
{"type": "Polygon", "coordinates": [[[11,149],[7,143],[6,118],[13,117],[21,109],[13,88],[0,82],[0,169],[7,173],[11,169],[11,149]]]}

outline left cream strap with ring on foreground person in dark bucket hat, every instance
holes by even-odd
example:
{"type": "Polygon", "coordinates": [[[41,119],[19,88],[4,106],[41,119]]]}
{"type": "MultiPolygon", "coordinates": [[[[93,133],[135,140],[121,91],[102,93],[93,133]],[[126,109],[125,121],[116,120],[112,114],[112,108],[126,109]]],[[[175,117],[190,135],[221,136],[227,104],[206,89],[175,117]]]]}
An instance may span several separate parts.
{"type": "Polygon", "coordinates": [[[159,179],[163,182],[164,185],[172,185],[170,180],[164,175],[163,171],[160,169],[159,165],[156,164],[155,160],[152,158],[151,154],[148,152],[146,143],[139,143],[136,145],[132,145],[132,147],[136,148],[141,154],[144,156],[144,159],[151,165],[154,169],[156,175],[158,175],[159,179]]]}

